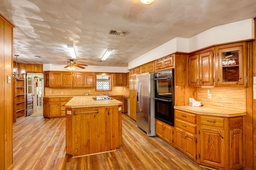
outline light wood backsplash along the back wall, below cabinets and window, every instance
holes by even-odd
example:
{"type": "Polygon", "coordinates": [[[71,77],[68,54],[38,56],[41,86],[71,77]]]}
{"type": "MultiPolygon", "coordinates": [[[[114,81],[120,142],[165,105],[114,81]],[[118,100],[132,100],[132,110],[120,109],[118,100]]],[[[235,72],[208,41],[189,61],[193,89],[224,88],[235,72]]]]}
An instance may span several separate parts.
{"type": "Polygon", "coordinates": [[[96,91],[95,87],[73,87],[71,88],[45,88],[44,96],[61,96],[61,95],[84,95],[84,93],[89,93],[89,95],[101,95],[102,93],[111,95],[124,95],[129,96],[129,86],[116,86],[112,87],[112,91],[96,91]],[[126,88],[126,91],[124,90],[126,88]],[[89,92],[90,90],[90,92],[89,92]],[[50,93],[52,91],[52,93],[50,93]],[[63,94],[62,94],[63,92],[63,94]]]}

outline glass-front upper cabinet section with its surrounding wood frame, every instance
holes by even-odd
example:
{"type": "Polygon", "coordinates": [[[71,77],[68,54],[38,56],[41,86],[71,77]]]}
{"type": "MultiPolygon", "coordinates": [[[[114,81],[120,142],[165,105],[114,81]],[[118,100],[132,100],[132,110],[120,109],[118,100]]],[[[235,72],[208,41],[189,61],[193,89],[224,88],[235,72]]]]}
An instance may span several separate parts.
{"type": "Polygon", "coordinates": [[[247,86],[247,42],[216,47],[218,55],[218,85],[247,86]]]}

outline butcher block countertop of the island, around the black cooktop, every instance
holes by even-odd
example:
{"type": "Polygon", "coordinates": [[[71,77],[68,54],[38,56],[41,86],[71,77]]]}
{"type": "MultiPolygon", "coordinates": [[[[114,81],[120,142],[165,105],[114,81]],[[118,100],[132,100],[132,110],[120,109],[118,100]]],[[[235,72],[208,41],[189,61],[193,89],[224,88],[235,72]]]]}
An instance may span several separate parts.
{"type": "MultiPolygon", "coordinates": [[[[102,107],[102,106],[119,106],[122,102],[112,100],[94,100],[99,96],[74,96],[66,105],[66,108],[81,108],[81,107],[102,107]]],[[[101,96],[102,97],[102,96],[101,96]]],[[[105,96],[107,97],[107,96],[105,96]]]]}

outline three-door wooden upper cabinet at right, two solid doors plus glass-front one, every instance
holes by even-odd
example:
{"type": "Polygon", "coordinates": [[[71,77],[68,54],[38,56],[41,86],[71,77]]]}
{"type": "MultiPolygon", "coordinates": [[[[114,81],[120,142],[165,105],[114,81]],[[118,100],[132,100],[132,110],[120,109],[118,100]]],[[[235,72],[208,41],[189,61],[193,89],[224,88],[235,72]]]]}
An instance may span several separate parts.
{"type": "Polygon", "coordinates": [[[189,86],[248,86],[248,42],[218,45],[188,56],[189,86]]]}

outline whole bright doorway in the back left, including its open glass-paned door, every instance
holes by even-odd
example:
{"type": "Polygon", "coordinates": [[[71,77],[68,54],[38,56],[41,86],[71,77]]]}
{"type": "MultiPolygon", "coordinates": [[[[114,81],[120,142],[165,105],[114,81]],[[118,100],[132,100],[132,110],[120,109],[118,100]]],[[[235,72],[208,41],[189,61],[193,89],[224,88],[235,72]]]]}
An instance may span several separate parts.
{"type": "Polygon", "coordinates": [[[43,115],[44,74],[26,74],[26,116],[43,115]]]}

